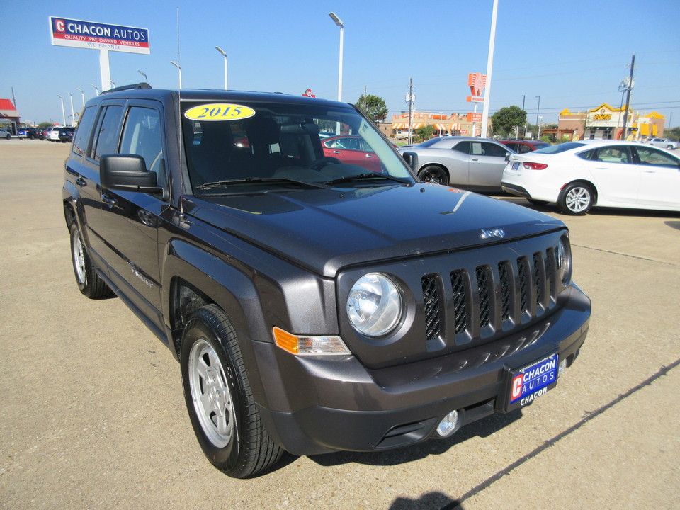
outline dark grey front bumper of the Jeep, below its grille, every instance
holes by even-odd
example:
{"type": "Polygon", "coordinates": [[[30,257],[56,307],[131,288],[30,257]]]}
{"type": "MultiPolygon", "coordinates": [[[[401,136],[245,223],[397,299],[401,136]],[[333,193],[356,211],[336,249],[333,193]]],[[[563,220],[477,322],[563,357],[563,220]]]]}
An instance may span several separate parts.
{"type": "Polygon", "coordinates": [[[266,388],[259,412],[271,438],[295,455],[424,441],[454,409],[462,425],[501,412],[509,370],[554,352],[571,365],[589,317],[590,300],[574,286],[564,306],[523,331],[441,358],[378,370],[367,370],[353,356],[295,357],[255,342],[266,388]]]}

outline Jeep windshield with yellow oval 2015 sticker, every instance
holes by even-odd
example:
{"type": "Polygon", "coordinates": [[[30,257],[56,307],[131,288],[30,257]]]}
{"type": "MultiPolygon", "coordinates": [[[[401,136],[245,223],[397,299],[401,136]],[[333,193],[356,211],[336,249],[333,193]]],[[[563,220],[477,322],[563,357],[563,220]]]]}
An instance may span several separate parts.
{"type": "Polygon", "coordinates": [[[196,195],[242,193],[244,186],[414,182],[382,135],[352,108],[186,101],[182,123],[196,195]]]}

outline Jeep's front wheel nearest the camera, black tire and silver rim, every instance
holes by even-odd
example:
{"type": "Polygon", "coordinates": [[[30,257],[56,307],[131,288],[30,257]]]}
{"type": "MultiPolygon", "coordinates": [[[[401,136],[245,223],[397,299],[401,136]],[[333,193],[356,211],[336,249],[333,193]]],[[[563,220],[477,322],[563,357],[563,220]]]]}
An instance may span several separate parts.
{"type": "Polygon", "coordinates": [[[217,305],[189,317],[180,363],[193,431],[212,465],[246,478],[277,463],[283,450],[262,426],[236,331],[217,305]]]}

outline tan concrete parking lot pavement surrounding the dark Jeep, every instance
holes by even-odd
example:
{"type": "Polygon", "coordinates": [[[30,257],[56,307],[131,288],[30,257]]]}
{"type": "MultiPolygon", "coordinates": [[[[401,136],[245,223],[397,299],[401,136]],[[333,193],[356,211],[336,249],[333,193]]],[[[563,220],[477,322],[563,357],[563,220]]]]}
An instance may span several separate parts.
{"type": "Polygon", "coordinates": [[[68,150],[0,140],[0,509],[680,508],[680,213],[541,208],[570,227],[593,315],[577,363],[530,407],[232,480],[200,451],[171,353],[74,283],[68,150]]]}

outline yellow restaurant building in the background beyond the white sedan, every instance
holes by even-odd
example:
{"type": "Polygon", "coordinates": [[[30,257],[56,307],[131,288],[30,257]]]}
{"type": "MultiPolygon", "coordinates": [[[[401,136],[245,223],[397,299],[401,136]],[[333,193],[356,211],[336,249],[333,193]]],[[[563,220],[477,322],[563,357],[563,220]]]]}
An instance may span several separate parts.
{"type": "MultiPolygon", "coordinates": [[[[560,112],[557,130],[551,131],[556,131],[555,135],[558,136],[572,132],[574,140],[621,140],[624,115],[625,108],[612,108],[607,103],[586,112],[570,112],[565,108],[560,112]]],[[[627,138],[642,140],[646,137],[662,137],[665,121],[664,115],[659,113],[640,113],[629,108],[627,138]]]]}

